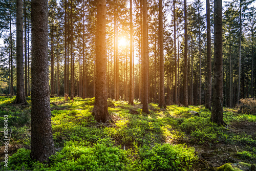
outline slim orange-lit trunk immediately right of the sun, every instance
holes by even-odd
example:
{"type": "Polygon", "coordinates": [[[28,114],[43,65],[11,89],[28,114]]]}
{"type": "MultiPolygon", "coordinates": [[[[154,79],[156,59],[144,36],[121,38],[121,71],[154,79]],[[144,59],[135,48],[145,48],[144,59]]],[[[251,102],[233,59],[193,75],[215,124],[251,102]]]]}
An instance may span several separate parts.
{"type": "Polygon", "coordinates": [[[130,0],[130,96],[129,104],[134,105],[133,91],[133,1],[130,0]]]}

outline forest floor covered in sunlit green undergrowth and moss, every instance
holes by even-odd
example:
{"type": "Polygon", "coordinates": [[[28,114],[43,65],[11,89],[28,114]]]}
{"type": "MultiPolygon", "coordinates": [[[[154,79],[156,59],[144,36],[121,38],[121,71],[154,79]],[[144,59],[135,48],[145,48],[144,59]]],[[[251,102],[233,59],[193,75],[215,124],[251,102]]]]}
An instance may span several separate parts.
{"type": "MultiPolygon", "coordinates": [[[[34,162],[29,155],[31,98],[29,105],[10,105],[14,98],[0,97],[1,159],[5,115],[12,130],[8,169],[217,170],[233,163],[250,170],[256,164],[256,115],[224,108],[228,126],[223,127],[209,122],[211,113],[202,105],[159,109],[151,103],[150,114],[145,114],[137,101],[131,106],[109,99],[114,122],[98,123],[92,116],[94,98],[64,97],[51,98],[56,155],[47,164],[34,162]]],[[[3,162],[0,170],[5,170],[3,162]]]]}

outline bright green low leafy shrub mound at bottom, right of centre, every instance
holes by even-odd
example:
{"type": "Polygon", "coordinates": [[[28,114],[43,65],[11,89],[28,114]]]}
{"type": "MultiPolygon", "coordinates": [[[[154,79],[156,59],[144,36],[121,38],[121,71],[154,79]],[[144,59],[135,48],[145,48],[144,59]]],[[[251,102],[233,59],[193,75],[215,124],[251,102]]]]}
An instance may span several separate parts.
{"type": "Polygon", "coordinates": [[[184,145],[156,144],[152,149],[143,146],[134,170],[188,170],[197,159],[194,148],[184,145]]]}

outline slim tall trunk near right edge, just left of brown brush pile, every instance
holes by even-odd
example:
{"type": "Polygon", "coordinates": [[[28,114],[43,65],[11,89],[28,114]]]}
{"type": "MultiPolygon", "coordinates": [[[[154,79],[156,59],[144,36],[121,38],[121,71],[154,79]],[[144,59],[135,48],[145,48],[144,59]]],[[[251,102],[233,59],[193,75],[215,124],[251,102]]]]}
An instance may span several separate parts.
{"type": "Polygon", "coordinates": [[[238,66],[238,98],[237,103],[240,100],[240,84],[241,84],[241,43],[242,43],[242,4],[240,0],[240,11],[239,11],[239,66],[238,66]]]}

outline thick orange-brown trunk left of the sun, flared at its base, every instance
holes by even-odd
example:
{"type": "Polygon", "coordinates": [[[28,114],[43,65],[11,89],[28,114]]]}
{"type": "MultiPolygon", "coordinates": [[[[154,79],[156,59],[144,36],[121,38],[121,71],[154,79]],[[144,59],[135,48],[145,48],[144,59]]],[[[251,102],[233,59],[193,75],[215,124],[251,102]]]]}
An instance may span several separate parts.
{"type": "Polygon", "coordinates": [[[106,0],[97,1],[96,25],[96,87],[93,116],[98,122],[106,122],[111,120],[106,93],[106,0]]]}

